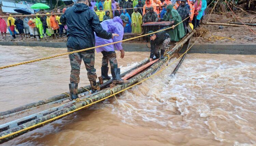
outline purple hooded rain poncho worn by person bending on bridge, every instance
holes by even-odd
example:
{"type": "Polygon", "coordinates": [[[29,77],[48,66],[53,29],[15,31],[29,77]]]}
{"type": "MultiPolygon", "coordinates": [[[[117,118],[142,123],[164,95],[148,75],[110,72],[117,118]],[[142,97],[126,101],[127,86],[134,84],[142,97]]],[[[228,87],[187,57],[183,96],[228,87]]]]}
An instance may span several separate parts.
{"type": "MultiPolygon", "coordinates": [[[[95,40],[96,40],[95,46],[123,40],[123,36],[124,36],[123,21],[118,16],[114,17],[113,19],[102,21],[100,24],[102,25],[102,28],[105,31],[107,31],[109,33],[118,34],[119,36],[118,37],[115,36],[114,39],[111,38],[111,39],[107,40],[107,39],[103,39],[103,38],[96,36],[96,34],[94,33],[95,40]]],[[[97,51],[97,53],[99,53],[101,51],[107,51],[107,52],[115,51],[114,46],[115,46],[116,50],[118,50],[118,51],[123,49],[122,42],[119,42],[119,43],[107,45],[105,47],[96,48],[96,51],[97,51]]]]}

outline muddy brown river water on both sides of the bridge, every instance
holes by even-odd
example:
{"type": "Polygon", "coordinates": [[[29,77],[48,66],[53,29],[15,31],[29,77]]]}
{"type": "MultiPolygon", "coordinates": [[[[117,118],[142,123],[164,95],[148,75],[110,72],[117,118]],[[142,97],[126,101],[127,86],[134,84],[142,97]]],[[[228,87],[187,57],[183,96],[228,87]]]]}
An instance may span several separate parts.
{"type": "MultiPolygon", "coordinates": [[[[65,53],[64,48],[0,46],[0,66],[65,53]]],[[[126,52],[126,71],[149,52],[126,52]]],[[[100,75],[101,54],[96,54],[100,75]]],[[[255,55],[187,54],[114,98],[2,145],[256,145],[255,55]]],[[[173,61],[174,59],[172,59],[173,61]]],[[[0,111],[68,91],[68,56],[0,70],[0,111]]],[[[88,84],[82,65],[79,86],[88,84]]]]}

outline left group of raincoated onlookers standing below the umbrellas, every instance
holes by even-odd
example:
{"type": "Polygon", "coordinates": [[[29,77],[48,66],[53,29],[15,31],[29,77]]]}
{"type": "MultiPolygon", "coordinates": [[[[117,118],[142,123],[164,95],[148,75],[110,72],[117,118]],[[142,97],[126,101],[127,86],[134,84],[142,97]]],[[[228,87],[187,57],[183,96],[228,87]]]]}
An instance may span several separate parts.
{"type": "MultiPolygon", "coordinates": [[[[64,13],[66,8],[62,10],[64,13]]],[[[42,15],[40,16],[37,13],[35,16],[31,14],[31,17],[16,16],[16,19],[12,17],[11,14],[6,13],[6,16],[9,16],[7,19],[7,24],[3,18],[0,18],[0,31],[2,38],[6,37],[6,26],[12,35],[12,38],[15,39],[17,34],[20,35],[20,38],[30,38],[34,37],[35,40],[46,38],[46,36],[52,38],[62,37],[63,34],[67,34],[67,25],[62,25],[60,23],[61,11],[57,10],[59,15],[54,15],[55,12],[52,12],[52,15],[42,15]],[[65,33],[64,33],[65,30],[65,33]],[[36,37],[38,36],[38,38],[36,37]]],[[[41,12],[45,14],[45,12],[41,12]]],[[[49,14],[49,13],[46,13],[49,14]]]]}

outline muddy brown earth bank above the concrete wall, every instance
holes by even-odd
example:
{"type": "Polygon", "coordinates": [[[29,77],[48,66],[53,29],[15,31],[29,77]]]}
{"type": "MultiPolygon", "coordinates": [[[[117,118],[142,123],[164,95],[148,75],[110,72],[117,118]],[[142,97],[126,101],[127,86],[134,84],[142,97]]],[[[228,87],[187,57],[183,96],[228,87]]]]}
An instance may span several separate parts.
{"type": "MultiPolygon", "coordinates": [[[[248,14],[248,15],[242,15],[241,13],[237,14],[239,19],[244,22],[244,23],[256,23],[256,14],[248,14]]],[[[217,14],[211,14],[210,15],[205,15],[203,22],[216,22],[216,23],[228,23],[229,21],[236,21],[240,22],[238,19],[233,18],[232,15],[229,13],[223,14],[223,15],[217,15],[217,14]],[[210,17],[209,21],[208,18],[210,17]]],[[[205,36],[204,38],[211,37],[212,35],[217,36],[217,37],[226,37],[224,39],[218,39],[215,41],[206,41],[205,39],[198,39],[198,37],[193,37],[191,42],[195,42],[197,40],[198,44],[220,44],[220,43],[225,43],[225,44],[251,44],[256,42],[256,35],[251,32],[249,29],[252,31],[256,32],[256,27],[255,26],[240,26],[240,27],[233,27],[233,26],[219,26],[219,25],[203,25],[201,24],[202,27],[205,29],[209,30],[209,34],[205,36]],[[232,38],[235,40],[230,40],[227,38],[232,38]]],[[[124,36],[124,39],[126,37],[124,36]]],[[[6,38],[2,39],[2,41],[14,41],[14,42],[67,42],[67,36],[63,35],[62,38],[57,38],[57,39],[52,39],[52,37],[47,37],[46,39],[40,39],[38,41],[37,39],[34,39],[33,37],[30,38],[23,38],[21,39],[19,36],[16,39],[12,39],[11,35],[7,35],[6,38]]],[[[126,41],[126,43],[129,44],[145,44],[145,41],[140,41],[140,40],[129,40],[126,41]]],[[[46,46],[50,47],[50,46],[46,46]]],[[[58,47],[55,47],[58,48],[58,47]]]]}

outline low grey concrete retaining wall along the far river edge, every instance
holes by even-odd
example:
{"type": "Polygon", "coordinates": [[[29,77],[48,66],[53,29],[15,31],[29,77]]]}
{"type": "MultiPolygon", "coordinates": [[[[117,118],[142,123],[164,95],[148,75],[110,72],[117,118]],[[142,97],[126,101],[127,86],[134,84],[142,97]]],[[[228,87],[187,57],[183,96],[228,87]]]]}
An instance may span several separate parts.
{"type": "MultiPolygon", "coordinates": [[[[42,46],[52,48],[66,48],[66,42],[1,42],[0,45],[18,45],[18,46],[42,46]]],[[[125,51],[150,52],[145,43],[123,43],[125,51]]],[[[148,43],[148,46],[150,44],[148,43]]],[[[184,45],[180,53],[185,52],[187,45],[184,45]]],[[[1,48],[1,47],[0,47],[1,48]]],[[[256,55],[255,44],[194,44],[188,53],[210,53],[210,54],[253,54],[256,55]]]]}

